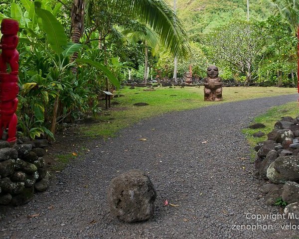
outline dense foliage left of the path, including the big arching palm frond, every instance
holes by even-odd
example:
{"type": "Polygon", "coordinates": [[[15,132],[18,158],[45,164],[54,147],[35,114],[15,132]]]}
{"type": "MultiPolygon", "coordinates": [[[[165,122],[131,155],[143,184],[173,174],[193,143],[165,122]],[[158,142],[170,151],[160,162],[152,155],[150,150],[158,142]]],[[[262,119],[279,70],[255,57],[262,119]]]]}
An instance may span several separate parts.
{"type": "Polygon", "coordinates": [[[20,25],[18,127],[32,138],[53,138],[58,122],[97,113],[102,90],[119,88],[124,70],[143,62],[122,31],[149,27],[171,54],[188,54],[185,31],[164,1],[4,1],[5,17],[20,25]]]}

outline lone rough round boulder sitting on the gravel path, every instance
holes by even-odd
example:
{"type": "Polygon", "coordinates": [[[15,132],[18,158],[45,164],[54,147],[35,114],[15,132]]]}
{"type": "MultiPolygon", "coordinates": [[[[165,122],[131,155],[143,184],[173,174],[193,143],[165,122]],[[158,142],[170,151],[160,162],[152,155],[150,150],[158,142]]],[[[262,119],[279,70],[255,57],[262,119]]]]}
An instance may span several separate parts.
{"type": "Polygon", "coordinates": [[[111,214],[125,222],[149,220],[153,216],[156,192],[149,176],[131,170],[114,178],[108,188],[111,214]]]}

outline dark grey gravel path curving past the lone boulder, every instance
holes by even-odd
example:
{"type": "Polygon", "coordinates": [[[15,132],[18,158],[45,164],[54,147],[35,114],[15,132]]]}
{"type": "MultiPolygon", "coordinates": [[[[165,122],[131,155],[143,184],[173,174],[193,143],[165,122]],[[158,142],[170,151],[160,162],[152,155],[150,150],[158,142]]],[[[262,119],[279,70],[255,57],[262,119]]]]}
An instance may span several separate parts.
{"type": "Polygon", "coordinates": [[[241,128],[270,107],[296,100],[288,95],[165,114],[99,147],[95,142],[84,160],[57,174],[48,191],[6,214],[0,238],[293,239],[298,231],[238,231],[233,225],[289,224],[252,219],[281,208],[264,205],[241,128]],[[110,181],[133,168],[149,173],[158,196],[152,220],[126,224],[112,218],[106,195],[110,181]],[[164,199],[179,207],[163,207],[164,199]]]}

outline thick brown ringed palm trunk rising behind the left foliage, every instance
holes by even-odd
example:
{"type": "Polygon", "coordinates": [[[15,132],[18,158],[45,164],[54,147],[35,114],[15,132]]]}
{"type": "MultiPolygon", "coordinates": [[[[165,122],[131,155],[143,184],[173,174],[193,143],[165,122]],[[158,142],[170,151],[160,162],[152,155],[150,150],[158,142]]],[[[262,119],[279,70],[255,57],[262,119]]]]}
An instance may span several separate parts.
{"type": "MultiPolygon", "coordinates": [[[[84,30],[84,0],[73,0],[71,9],[71,39],[73,43],[79,43],[84,30]]],[[[70,61],[73,62],[78,58],[78,52],[75,52],[70,61]]],[[[77,66],[72,68],[74,74],[77,73],[77,66]]]]}

